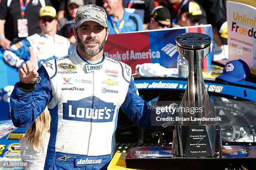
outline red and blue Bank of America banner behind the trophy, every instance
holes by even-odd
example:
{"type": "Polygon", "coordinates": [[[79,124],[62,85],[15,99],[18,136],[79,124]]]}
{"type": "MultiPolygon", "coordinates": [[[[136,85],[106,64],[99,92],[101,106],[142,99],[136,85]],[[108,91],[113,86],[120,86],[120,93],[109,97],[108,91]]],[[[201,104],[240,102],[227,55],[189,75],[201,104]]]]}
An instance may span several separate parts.
{"type": "MultiPolygon", "coordinates": [[[[177,67],[179,55],[175,39],[179,34],[186,32],[203,33],[212,38],[211,25],[114,34],[108,36],[104,48],[105,55],[130,65],[133,73],[137,64],[146,62],[174,68],[177,67]]],[[[212,56],[213,49],[203,60],[203,67],[211,64],[212,56]]]]}

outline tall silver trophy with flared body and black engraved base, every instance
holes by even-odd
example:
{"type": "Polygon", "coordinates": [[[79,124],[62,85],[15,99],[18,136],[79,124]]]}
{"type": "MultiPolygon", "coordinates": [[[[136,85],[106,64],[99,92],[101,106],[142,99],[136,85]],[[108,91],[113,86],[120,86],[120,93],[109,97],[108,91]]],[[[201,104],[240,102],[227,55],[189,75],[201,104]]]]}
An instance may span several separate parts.
{"type": "Polygon", "coordinates": [[[210,52],[211,38],[201,33],[184,33],[177,36],[176,43],[179,54],[189,64],[187,89],[180,107],[202,108],[202,112],[178,112],[183,119],[174,128],[173,154],[218,158],[221,156],[220,127],[214,119],[209,119],[215,118],[215,109],[202,76],[202,60],[210,52]],[[203,117],[207,119],[200,119],[203,117]]]}

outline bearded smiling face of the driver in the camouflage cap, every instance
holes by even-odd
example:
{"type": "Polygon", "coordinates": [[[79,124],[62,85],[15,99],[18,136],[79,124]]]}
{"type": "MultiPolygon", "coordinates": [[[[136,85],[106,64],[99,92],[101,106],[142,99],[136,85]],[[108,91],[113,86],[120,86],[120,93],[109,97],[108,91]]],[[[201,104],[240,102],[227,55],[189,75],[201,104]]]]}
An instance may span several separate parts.
{"type": "Polygon", "coordinates": [[[95,56],[103,51],[105,42],[108,39],[108,32],[102,25],[93,21],[82,23],[74,36],[77,39],[78,48],[89,56],[95,56]]]}

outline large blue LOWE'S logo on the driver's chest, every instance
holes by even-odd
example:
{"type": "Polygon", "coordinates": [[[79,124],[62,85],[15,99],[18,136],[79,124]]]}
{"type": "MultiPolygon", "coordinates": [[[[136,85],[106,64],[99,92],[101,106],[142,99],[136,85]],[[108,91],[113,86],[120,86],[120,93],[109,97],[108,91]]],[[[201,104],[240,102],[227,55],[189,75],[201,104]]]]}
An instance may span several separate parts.
{"type": "Polygon", "coordinates": [[[94,99],[90,96],[77,101],[68,100],[67,103],[63,103],[63,119],[65,120],[112,122],[114,112],[114,103],[104,102],[95,96],[94,99]]]}

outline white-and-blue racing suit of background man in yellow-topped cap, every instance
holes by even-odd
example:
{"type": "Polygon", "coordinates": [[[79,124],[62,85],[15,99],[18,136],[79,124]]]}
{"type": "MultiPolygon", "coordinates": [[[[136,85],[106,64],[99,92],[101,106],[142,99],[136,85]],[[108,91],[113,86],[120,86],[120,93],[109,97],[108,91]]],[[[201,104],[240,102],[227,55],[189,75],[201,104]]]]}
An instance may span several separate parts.
{"type": "Polygon", "coordinates": [[[32,47],[36,55],[38,67],[40,64],[69,55],[70,42],[67,38],[55,34],[53,37],[46,34],[34,34],[20,42],[11,45],[3,54],[5,62],[12,67],[20,67],[30,60],[28,47],[32,47]]]}

